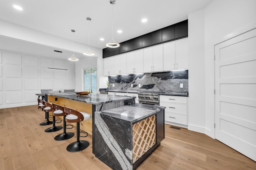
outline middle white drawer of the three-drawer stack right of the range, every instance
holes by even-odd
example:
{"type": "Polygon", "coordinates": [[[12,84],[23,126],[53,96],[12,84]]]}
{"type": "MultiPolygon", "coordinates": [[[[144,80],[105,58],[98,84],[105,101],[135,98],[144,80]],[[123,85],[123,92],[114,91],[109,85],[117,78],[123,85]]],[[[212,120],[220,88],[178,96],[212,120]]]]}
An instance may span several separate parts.
{"type": "Polygon", "coordinates": [[[165,106],[165,111],[187,114],[187,105],[182,103],[170,103],[160,101],[160,106],[165,106]]]}

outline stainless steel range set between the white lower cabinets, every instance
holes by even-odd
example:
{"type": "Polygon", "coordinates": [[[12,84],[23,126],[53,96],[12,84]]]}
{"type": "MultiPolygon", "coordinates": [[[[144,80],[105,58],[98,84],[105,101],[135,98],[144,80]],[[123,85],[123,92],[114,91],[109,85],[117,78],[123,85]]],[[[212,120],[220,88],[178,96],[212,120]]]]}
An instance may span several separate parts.
{"type": "Polygon", "coordinates": [[[159,106],[159,91],[148,91],[138,93],[138,101],[142,104],[159,106]]]}

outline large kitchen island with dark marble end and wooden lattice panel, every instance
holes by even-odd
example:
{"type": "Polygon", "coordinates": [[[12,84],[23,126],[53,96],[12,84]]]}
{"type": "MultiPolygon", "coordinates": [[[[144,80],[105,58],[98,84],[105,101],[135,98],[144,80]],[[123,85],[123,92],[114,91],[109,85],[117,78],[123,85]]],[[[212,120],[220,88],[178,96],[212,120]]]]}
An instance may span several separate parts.
{"type": "Polygon", "coordinates": [[[48,101],[92,115],[80,127],[92,135],[92,152],[112,169],[137,168],[164,139],[164,109],[135,97],[48,94],[48,101]]]}

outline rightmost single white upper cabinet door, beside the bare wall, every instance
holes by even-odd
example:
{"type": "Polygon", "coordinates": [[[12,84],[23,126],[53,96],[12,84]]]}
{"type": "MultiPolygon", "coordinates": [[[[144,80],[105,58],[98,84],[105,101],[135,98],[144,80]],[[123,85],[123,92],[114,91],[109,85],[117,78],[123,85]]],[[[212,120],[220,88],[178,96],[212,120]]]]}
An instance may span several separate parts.
{"type": "Polygon", "coordinates": [[[175,69],[188,69],[188,38],[176,40],[175,69]]]}

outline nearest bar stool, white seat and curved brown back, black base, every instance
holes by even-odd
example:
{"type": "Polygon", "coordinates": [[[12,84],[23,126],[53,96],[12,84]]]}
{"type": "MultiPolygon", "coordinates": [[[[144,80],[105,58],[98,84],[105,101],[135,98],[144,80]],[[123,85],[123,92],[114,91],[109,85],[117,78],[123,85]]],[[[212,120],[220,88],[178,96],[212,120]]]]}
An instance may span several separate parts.
{"type": "MultiPolygon", "coordinates": [[[[91,115],[85,112],[78,112],[68,107],[64,107],[64,111],[65,113],[68,114],[68,116],[66,116],[66,121],[68,123],[76,123],[76,142],[72,142],[71,144],[69,144],[67,146],[67,150],[69,152],[78,152],[78,151],[84,150],[89,146],[89,142],[86,140],[79,140],[80,122],[90,119],[91,115]]],[[[86,133],[87,134],[86,136],[88,136],[87,132],[84,132],[84,133],[86,133]]],[[[86,137],[86,136],[81,136],[81,137],[86,137]]]]}

